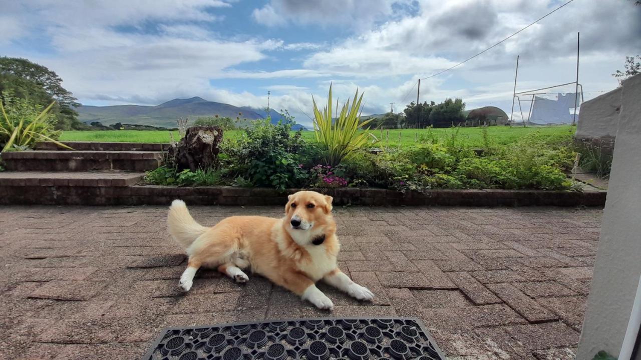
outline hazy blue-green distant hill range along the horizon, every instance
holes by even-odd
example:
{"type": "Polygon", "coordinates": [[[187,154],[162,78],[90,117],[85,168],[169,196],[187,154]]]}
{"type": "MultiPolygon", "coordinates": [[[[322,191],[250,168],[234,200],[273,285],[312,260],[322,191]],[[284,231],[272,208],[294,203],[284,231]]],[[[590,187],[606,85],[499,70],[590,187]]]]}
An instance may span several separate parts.
{"type": "MultiPolygon", "coordinates": [[[[256,120],[265,119],[265,111],[244,106],[223,104],[222,102],[206,101],[202,97],[190,99],[173,99],[156,106],[142,105],[115,105],[115,106],[80,106],[78,109],[78,120],[89,124],[94,121],[104,125],[112,125],[117,122],[122,124],[151,125],[160,127],[176,127],[176,120],[182,117],[196,120],[197,117],[219,115],[231,117],[231,119],[256,120]],[[240,115],[238,115],[240,113],[240,115]]],[[[272,123],[284,119],[283,115],[271,110],[272,123]]],[[[296,124],[294,129],[303,126],[296,124]]]]}

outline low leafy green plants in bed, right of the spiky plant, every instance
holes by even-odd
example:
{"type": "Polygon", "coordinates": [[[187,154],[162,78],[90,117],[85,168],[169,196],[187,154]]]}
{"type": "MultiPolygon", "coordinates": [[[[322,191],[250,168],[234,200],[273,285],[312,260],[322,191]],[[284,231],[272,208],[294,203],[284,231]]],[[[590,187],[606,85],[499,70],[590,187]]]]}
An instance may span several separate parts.
{"type": "MultiPolygon", "coordinates": [[[[379,155],[361,153],[345,163],[351,184],[422,191],[431,188],[570,189],[562,168],[574,152],[538,133],[486,156],[461,145],[456,129],[444,140],[379,155]]],[[[488,139],[489,143],[490,140],[488,139]]]]}

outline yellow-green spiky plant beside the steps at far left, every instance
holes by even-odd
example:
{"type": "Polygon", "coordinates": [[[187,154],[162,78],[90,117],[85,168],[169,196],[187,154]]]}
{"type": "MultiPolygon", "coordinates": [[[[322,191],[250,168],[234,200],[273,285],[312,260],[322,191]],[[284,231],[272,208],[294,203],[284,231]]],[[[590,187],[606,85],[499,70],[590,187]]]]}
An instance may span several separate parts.
{"type": "MultiPolygon", "coordinates": [[[[54,140],[54,137],[60,135],[60,132],[54,129],[54,117],[49,114],[54,104],[55,102],[51,102],[40,113],[21,110],[7,111],[0,99],[0,113],[2,114],[0,117],[0,143],[4,143],[2,152],[28,149],[33,143],[45,140],[73,150],[71,147],[54,140]]],[[[19,106],[24,105],[20,104],[19,106]]]]}

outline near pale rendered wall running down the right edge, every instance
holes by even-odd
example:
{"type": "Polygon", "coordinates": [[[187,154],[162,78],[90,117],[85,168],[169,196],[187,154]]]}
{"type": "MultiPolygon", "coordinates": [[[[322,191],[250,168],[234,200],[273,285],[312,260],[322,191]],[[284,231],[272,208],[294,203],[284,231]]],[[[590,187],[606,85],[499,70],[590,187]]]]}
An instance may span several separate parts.
{"type": "Polygon", "coordinates": [[[617,141],[576,357],[579,360],[592,359],[599,350],[619,356],[641,276],[641,74],[624,82],[620,99],[617,141]]]}

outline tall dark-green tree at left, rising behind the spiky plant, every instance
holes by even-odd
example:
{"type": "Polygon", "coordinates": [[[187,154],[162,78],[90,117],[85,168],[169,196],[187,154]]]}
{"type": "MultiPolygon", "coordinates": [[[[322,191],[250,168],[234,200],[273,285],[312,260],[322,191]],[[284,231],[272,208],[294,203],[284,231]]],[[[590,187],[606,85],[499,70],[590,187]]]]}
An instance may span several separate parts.
{"type": "Polygon", "coordinates": [[[80,106],[78,99],[63,88],[60,76],[47,67],[22,58],[0,57],[0,92],[11,92],[42,106],[56,101],[52,113],[58,117],[58,128],[83,127],[75,110],[80,106]]]}

